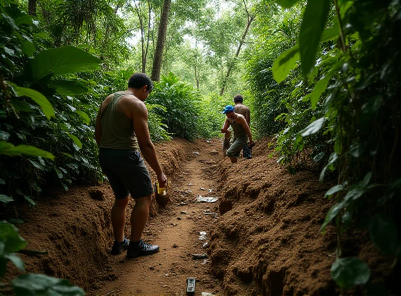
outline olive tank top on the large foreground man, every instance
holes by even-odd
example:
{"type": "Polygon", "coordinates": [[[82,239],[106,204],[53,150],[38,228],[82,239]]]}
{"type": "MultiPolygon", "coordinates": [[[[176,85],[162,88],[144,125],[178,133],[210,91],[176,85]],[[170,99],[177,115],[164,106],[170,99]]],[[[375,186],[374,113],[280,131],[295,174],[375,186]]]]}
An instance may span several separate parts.
{"type": "Polygon", "coordinates": [[[102,138],[100,147],[112,149],[139,150],[132,119],[122,110],[118,110],[117,103],[126,95],[126,92],[116,92],[101,114],[102,138]]]}

